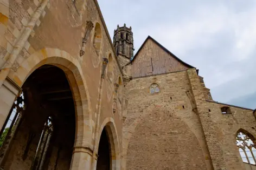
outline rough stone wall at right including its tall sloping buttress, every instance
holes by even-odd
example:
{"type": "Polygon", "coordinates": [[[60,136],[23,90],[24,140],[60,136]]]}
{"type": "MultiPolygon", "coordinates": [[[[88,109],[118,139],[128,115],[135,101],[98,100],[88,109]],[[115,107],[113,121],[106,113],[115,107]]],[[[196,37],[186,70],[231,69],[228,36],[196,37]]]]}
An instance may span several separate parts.
{"type": "Polygon", "coordinates": [[[187,72],[214,169],[245,169],[235,138],[240,129],[255,137],[253,110],[206,101],[196,70],[187,72]],[[232,113],[222,114],[222,106],[230,107],[232,113]]]}

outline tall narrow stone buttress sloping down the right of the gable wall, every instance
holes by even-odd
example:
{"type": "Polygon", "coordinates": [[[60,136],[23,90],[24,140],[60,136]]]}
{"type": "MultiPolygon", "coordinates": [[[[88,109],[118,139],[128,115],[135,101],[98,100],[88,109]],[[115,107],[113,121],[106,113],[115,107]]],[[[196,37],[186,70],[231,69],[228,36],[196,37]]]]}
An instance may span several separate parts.
{"type": "Polygon", "coordinates": [[[187,71],[188,78],[191,85],[191,91],[195,98],[196,109],[202,124],[203,132],[206,137],[207,146],[209,149],[210,157],[212,159],[213,168],[215,170],[226,169],[225,162],[223,161],[223,154],[221,149],[220,140],[214,128],[214,122],[210,118],[206,99],[204,98],[204,91],[196,73],[196,69],[189,69],[187,71]]]}

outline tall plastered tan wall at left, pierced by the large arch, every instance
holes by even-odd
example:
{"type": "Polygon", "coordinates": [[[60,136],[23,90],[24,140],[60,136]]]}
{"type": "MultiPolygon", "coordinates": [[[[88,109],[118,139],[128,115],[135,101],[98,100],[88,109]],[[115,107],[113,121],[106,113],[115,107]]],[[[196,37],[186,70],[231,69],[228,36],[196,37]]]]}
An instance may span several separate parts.
{"type": "MultiPolygon", "coordinates": [[[[75,109],[78,112],[78,129],[80,128],[78,132],[87,136],[78,142],[79,145],[84,145],[82,149],[86,151],[82,150],[83,152],[81,152],[79,150],[78,153],[87,154],[89,157],[94,154],[95,158],[101,135],[99,129],[110,121],[114,126],[111,131],[114,130],[115,132],[112,133],[116,136],[114,138],[115,144],[112,145],[116,145],[120,149],[122,135],[121,103],[119,102],[119,110],[114,114],[113,99],[114,84],[118,83],[119,77],[121,81],[123,78],[98,2],[94,0],[78,0],[76,2],[75,4],[72,0],[4,0],[0,2],[0,69],[7,70],[5,72],[8,73],[6,78],[1,71],[0,81],[4,81],[5,86],[7,86],[8,80],[12,83],[10,86],[21,90],[25,80],[37,67],[43,64],[61,67],[65,71],[70,86],[78,87],[76,91],[73,91],[75,109]],[[31,17],[34,16],[42,2],[48,2],[46,8],[35,20],[35,26],[28,26],[28,23],[31,23],[31,17]],[[96,51],[95,30],[93,28],[87,37],[85,54],[80,56],[87,21],[91,21],[94,28],[97,23],[100,25],[101,33],[97,37],[97,45],[100,44],[100,46],[97,46],[99,50],[96,51]],[[29,33],[27,39],[24,38],[24,32],[29,33]],[[22,47],[20,52],[17,51],[17,42],[22,47]],[[20,45],[21,42],[23,45],[20,45]],[[17,57],[14,57],[16,54],[17,57]],[[105,78],[102,79],[103,57],[108,58],[110,54],[113,56],[113,77],[112,80],[108,79],[106,74],[108,68],[106,68],[105,78]],[[74,78],[72,81],[71,77],[74,78]]],[[[5,86],[0,87],[0,126],[7,118],[15,100],[15,94],[18,94],[14,88],[8,87],[12,90],[9,91],[5,86]]],[[[119,84],[120,88],[121,86],[123,83],[119,84]]],[[[122,94],[119,98],[122,98],[122,94]]],[[[116,152],[118,166],[120,151],[116,150],[116,152]]],[[[75,156],[74,159],[79,160],[80,157],[84,157],[84,155],[80,155],[75,156]]],[[[75,168],[85,164],[85,159],[81,160],[81,164],[75,164],[75,168]]],[[[86,160],[91,164],[92,161],[87,156],[86,160]]],[[[87,163],[84,166],[90,167],[87,163]]]]}

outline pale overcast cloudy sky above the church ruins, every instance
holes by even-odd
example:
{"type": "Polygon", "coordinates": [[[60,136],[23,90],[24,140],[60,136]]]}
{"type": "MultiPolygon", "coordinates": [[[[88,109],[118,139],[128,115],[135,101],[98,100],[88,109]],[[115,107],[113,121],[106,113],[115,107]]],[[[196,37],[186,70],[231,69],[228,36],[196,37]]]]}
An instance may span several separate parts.
{"type": "Polygon", "coordinates": [[[255,0],[98,2],[111,38],[126,23],[135,52],[150,35],[199,69],[215,101],[256,108],[255,0]]]}

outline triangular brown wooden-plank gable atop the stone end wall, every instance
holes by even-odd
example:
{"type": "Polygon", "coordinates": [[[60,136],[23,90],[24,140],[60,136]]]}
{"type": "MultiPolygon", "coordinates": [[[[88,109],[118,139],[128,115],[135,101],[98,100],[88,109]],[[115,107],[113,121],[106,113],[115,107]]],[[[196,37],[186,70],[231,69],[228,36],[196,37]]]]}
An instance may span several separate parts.
{"type": "Polygon", "coordinates": [[[190,68],[193,66],[183,62],[149,36],[132,60],[132,77],[183,71],[190,68]]]}

